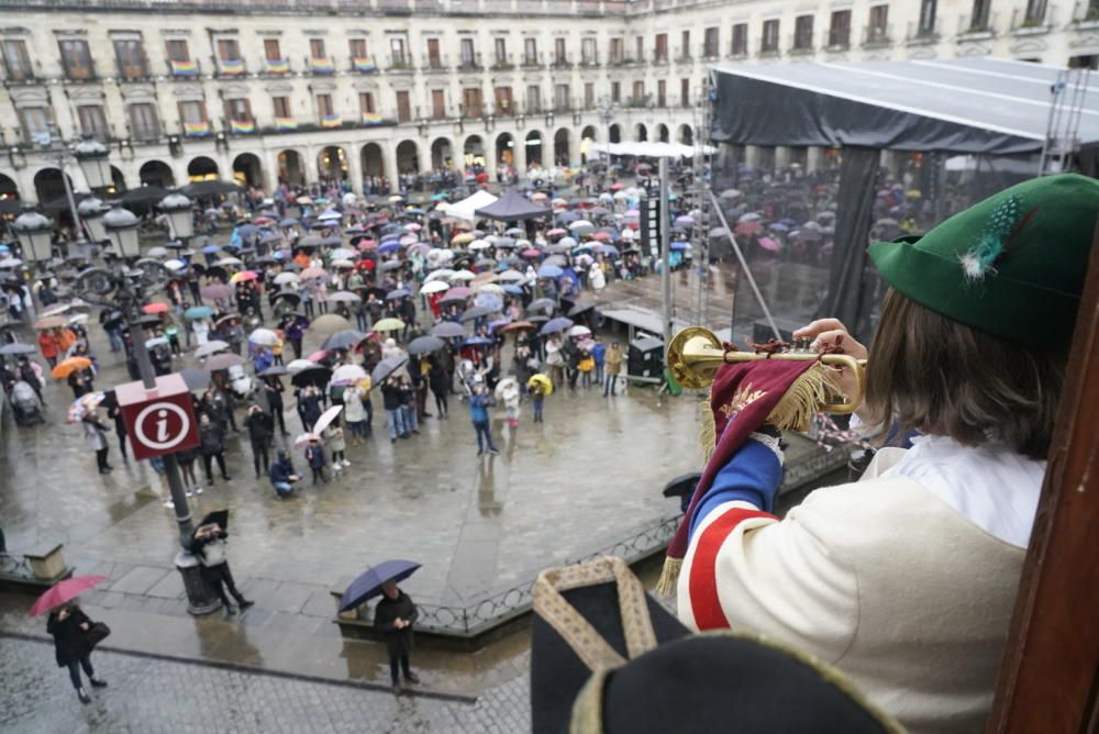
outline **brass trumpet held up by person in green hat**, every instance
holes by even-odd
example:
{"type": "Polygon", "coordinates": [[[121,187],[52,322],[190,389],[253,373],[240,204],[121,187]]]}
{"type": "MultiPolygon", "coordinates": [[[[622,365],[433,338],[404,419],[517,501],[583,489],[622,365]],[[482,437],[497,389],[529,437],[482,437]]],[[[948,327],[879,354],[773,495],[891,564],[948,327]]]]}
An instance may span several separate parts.
{"type": "Polygon", "coordinates": [[[717,335],[702,326],[688,326],[671,337],[668,344],[668,369],[676,380],[685,388],[698,390],[713,381],[718,368],[724,364],[754,362],[756,359],[819,359],[829,367],[850,369],[855,376],[856,387],[853,394],[834,396],[821,404],[825,413],[853,413],[863,402],[866,360],[856,359],[846,354],[813,354],[809,352],[776,352],[773,354],[756,354],[755,352],[726,351],[717,335]]]}

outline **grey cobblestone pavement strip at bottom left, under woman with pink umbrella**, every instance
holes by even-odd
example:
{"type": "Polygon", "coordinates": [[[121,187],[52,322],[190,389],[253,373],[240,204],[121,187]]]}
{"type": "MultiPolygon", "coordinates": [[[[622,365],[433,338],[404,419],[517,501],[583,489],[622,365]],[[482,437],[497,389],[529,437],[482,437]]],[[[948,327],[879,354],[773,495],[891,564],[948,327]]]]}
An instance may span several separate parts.
{"type": "Polygon", "coordinates": [[[529,678],[476,702],[288,679],[111,652],[93,656],[109,688],[76,698],[48,642],[0,637],[0,731],[501,733],[530,730],[529,678]]]}

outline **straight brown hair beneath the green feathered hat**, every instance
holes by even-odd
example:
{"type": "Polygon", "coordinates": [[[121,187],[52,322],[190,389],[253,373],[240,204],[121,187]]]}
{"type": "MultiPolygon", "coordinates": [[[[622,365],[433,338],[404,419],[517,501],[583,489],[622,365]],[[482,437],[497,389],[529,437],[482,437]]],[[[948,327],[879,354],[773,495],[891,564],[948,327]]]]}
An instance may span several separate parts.
{"type": "Polygon", "coordinates": [[[1066,362],[1064,352],[989,336],[890,289],[866,369],[869,421],[966,446],[999,441],[1043,459],[1066,362]]]}

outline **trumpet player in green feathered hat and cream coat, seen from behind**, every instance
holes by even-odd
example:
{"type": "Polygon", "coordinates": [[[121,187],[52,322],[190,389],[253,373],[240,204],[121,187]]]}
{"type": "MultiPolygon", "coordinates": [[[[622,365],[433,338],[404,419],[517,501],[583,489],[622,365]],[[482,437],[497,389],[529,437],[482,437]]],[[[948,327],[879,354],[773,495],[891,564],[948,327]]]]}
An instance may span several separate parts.
{"type": "Polygon", "coordinates": [[[835,665],[911,732],[981,731],[1097,214],[1099,181],[1051,176],[922,237],[872,245],[890,289],[870,348],[833,319],[795,336],[868,358],[857,414],[915,437],[785,518],[774,514],[776,424],[804,414],[790,405],[818,396],[802,378],[823,368],[719,368],[712,456],[662,578],[667,587],[678,572],[680,619],[762,633],[835,665]]]}

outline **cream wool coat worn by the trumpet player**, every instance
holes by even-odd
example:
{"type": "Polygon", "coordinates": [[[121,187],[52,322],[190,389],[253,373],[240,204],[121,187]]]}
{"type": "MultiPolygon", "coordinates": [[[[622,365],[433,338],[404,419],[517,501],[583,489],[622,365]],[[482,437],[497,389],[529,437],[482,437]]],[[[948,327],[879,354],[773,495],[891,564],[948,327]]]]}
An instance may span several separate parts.
{"type": "MultiPolygon", "coordinates": [[[[736,525],[717,556],[722,611],[733,629],[835,665],[913,733],[984,731],[1025,550],[915,481],[879,477],[900,452],[884,454],[862,481],[812,492],[781,522],[736,525]]],[[[678,588],[692,629],[695,549],[678,588]]]]}

